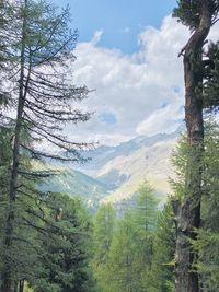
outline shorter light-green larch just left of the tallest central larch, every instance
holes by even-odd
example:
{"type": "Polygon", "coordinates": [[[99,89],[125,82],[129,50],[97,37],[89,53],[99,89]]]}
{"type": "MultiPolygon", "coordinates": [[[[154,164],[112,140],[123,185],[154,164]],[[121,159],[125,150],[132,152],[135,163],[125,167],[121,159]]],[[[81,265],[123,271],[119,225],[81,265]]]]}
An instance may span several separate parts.
{"type": "Polygon", "coordinates": [[[118,222],[110,250],[105,291],[141,291],[137,264],[136,223],[130,213],[118,222]]]}

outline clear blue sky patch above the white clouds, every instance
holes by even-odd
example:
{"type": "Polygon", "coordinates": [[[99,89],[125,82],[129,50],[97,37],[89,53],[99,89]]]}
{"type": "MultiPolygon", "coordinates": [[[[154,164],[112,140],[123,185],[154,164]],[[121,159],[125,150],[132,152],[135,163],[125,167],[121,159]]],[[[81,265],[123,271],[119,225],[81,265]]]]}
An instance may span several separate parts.
{"type": "Polygon", "coordinates": [[[72,25],[79,42],[88,42],[95,31],[103,31],[100,46],[118,48],[124,54],[137,51],[137,36],[146,26],[160,27],[176,0],[53,0],[70,4],[72,25]]]}

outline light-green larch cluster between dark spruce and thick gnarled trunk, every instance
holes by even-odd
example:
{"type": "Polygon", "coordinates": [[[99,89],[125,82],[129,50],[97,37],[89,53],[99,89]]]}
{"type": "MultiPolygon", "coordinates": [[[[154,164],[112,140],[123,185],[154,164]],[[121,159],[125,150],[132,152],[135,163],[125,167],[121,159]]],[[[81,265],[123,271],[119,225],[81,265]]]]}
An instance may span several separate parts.
{"type": "Polygon", "coordinates": [[[170,203],[162,211],[158,205],[145,183],[122,218],[111,205],[100,208],[93,232],[96,291],[173,291],[173,213],[170,203]]]}

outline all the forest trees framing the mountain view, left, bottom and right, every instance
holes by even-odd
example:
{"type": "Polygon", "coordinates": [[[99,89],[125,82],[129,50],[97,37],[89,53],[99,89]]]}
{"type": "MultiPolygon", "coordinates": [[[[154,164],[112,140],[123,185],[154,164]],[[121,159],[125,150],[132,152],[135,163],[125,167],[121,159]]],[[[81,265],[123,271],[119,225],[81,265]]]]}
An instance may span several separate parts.
{"type": "Polygon", "coordinates": [[[163,205],[145,182],[123,212],[102,203],[93,213],[39,187],[59,176],[51,161],[87,163],[94,147],[64,135],[92,115],[79,106],[89,89],[70,80],[69,8],[0,1],[1,292],[219,291],[219,42],[207,40],[218,12],[218,0],[180,0],[173,11],[191,30],[173,194],[163,205]]]}

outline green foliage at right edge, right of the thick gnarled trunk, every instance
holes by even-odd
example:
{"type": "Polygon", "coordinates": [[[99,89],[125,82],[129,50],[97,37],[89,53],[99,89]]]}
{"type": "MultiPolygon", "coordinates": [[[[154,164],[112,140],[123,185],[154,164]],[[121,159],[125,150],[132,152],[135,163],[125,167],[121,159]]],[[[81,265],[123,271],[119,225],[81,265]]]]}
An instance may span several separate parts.
{"type": "Polygon", "coordinates": [[[195,246],[197,267],[206,291],[219,291],[219,127],[206,125],[201,229],[195,246]]]}

